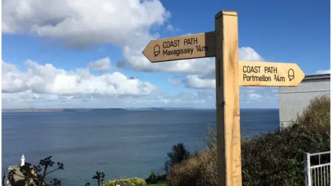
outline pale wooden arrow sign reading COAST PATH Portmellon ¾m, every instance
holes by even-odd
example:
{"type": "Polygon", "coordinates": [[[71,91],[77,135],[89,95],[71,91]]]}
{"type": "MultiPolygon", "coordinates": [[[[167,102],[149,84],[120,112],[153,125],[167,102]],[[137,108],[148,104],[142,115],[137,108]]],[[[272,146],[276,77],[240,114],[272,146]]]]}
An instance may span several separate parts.
{"type": "Polygon", "coordinates": [[[295,63],[240,61],[240,86],[296,87],[304,72],[295,63]]]}

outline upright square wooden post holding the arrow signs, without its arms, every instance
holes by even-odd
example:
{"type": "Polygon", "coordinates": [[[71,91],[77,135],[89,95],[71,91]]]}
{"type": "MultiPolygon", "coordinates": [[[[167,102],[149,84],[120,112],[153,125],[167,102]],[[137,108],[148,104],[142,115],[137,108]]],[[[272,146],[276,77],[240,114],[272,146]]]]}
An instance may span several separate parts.
{"type": "Polygon", "coordinates": [[[237,12],[215,16],[218,185],[241,186],[237,12]]]}

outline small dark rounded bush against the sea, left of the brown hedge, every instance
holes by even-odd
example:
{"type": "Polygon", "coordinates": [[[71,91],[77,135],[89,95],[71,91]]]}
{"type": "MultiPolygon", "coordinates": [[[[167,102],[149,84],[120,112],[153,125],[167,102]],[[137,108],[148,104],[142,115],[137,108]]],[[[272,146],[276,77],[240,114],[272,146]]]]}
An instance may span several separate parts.
{"type": "Polygon", "coordinates": [[[167,156],[169,160],[165,161],[165,172],[169,172],[174,164],[181,163],[183,160],[189,158],[190,152],[185,149],[183,143],[178,143],[172,146],[172,152],[168,152],[167,156]]]}

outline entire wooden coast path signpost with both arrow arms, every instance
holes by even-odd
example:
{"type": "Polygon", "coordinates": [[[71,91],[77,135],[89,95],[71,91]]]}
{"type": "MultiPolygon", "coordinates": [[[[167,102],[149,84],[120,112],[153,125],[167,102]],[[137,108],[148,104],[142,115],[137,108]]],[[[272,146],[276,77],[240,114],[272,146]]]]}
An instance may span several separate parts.
{"type": "Polygon", "coordinates": [[[218,185],[241,186],[239,86],[294,87],[304,79],[295,63],[239,61],[237,12],[215,16],[215,31],[150,41],[143,54],[151,61],[215,56],[218,185]]]}

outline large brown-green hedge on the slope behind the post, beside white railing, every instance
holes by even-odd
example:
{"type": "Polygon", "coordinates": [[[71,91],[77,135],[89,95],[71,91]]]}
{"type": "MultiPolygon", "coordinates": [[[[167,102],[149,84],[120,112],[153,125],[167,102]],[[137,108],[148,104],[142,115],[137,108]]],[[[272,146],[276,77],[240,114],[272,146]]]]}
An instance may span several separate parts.
{"type": "MultiPolygon", "coordinates": [[[[241,141],[243,186],[304,185],[303,152],[330,150],[330,98],[315,98],[292,127],[241,141]]],[[[171,186],[217,185],[216,133],[208,131],[208,150],[201,150],[167,174],[171,186]]]]}

